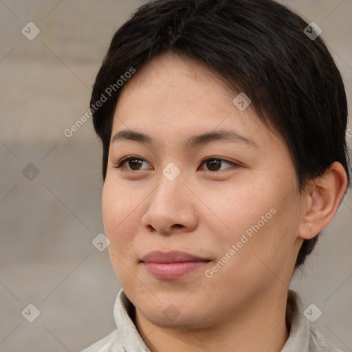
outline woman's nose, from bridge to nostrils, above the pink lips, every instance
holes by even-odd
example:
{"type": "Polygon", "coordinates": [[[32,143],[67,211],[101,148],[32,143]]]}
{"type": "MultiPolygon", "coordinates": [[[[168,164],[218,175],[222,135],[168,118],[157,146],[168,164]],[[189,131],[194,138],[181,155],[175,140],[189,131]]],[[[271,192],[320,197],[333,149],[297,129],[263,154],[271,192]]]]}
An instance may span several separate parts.
{"type": "Polygon", "coordinates": [[[170,181],[161,175],[158,186],[148,197],[142,225],[149,232],[173,234],[191,232],[197,227],[197,202],[184,177],[170,181]]]}

